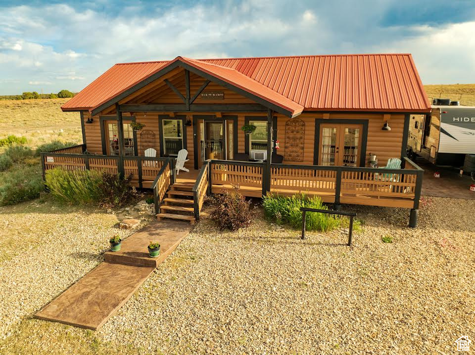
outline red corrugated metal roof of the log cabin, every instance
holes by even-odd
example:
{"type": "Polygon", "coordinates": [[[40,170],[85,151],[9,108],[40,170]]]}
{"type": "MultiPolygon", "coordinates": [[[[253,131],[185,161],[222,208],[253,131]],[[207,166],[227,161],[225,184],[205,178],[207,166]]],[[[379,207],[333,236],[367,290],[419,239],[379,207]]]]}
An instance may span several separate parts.
{"type": "Polygon", "coordinates": [[[177,57],[169,62],[116,64],[62,110],[92,111],[178,59],[293,112],[300,106],[316,111],[430,112],[410,54],[177,57]]]}

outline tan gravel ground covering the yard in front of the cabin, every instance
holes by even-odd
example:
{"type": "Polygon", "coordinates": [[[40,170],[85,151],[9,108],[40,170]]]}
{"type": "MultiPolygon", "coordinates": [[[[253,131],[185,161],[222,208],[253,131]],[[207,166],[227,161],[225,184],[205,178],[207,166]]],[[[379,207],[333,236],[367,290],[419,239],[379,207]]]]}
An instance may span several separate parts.
{"type": "MultiPolygon", "coordinates": [[[[25,318],[0,353],[454,354],[457,338],[474,340],[475,201],[424,198],[417,229],[408,210],[357,210],[352,248],[339,231],[301,241],[262,219],[238,233],[202,220],[99,331],[25,318]]],[[[17,312],[31,315],[100,261],[113,216],[97,213],[103,229],[87,212],[69,216],[37,257],[1,263],[2,305],[21,299],[17,312]]]]}

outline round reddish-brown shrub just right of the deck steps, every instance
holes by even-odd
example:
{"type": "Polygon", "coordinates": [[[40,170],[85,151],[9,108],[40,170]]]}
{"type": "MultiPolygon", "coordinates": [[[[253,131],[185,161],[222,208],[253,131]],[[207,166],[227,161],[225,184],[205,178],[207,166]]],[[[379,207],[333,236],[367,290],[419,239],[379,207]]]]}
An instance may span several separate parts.
{"type": "Polygon", "coordinates": [[[248,227],[252,221],[251,202],[239,193],[238,185],[233,185],[233,188],[234,190],[225,191],[222,195],[207,198],[213,207],[210,217],[220,230],[237,231],[248,227]]]}

